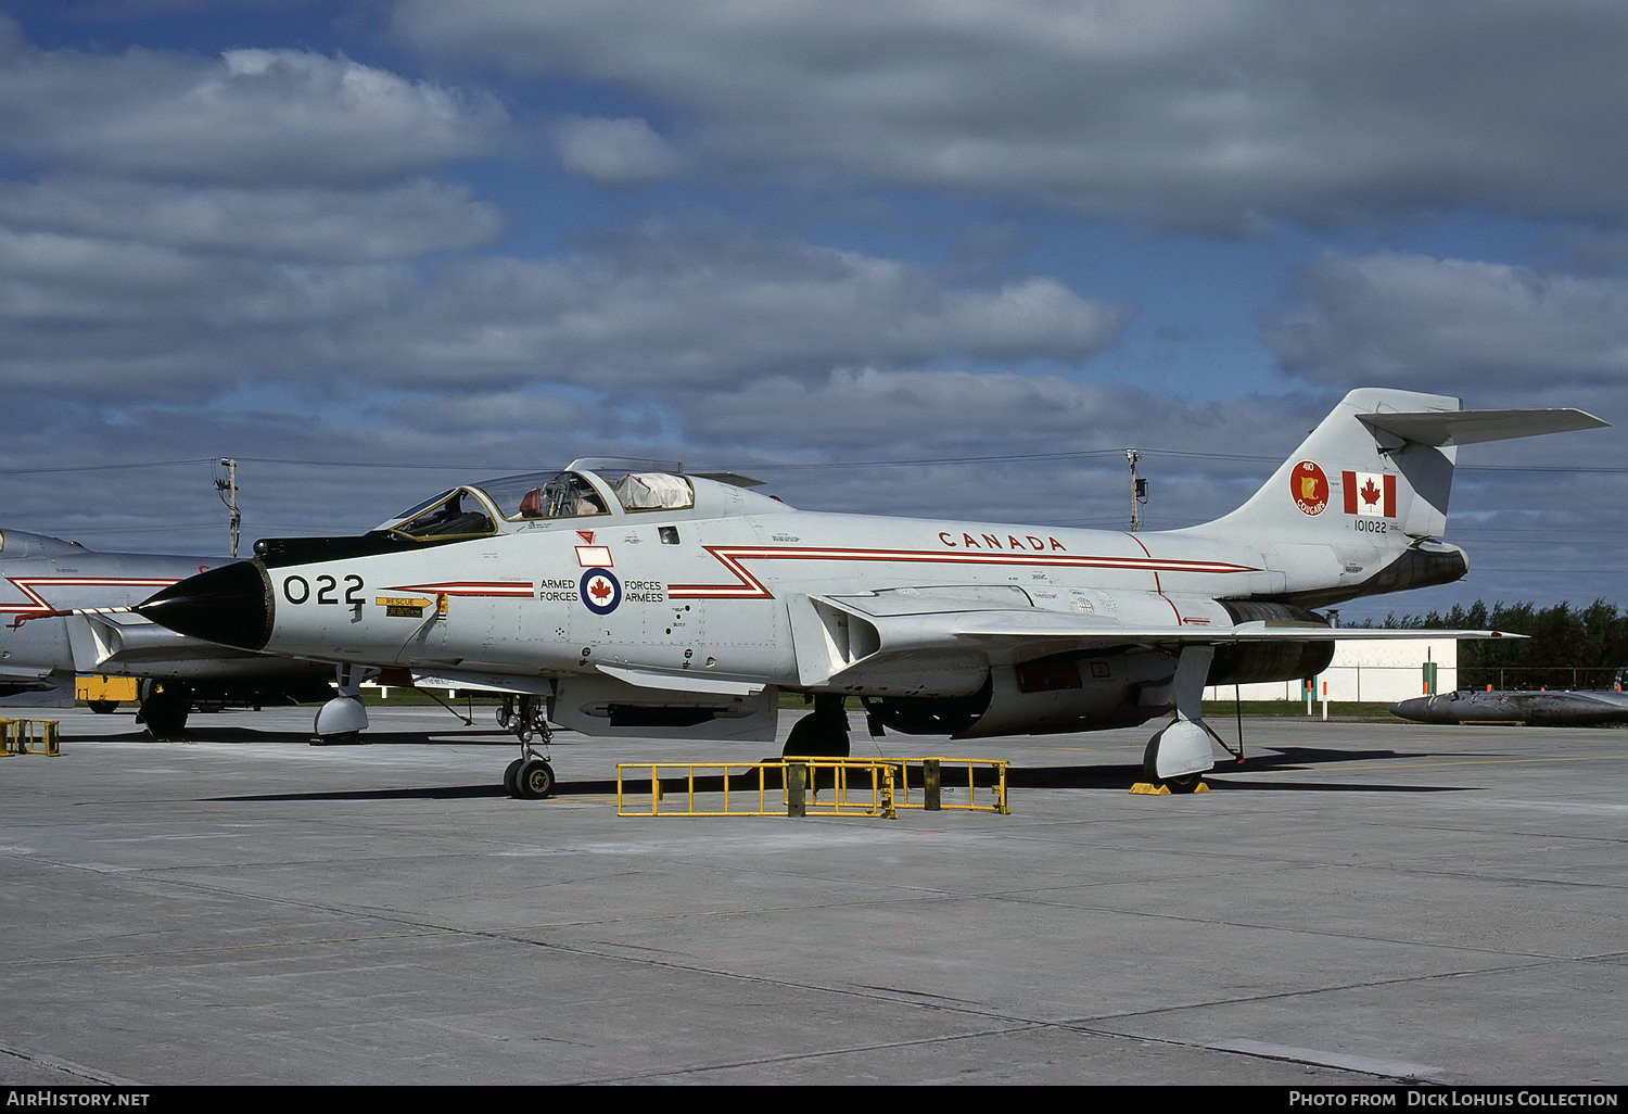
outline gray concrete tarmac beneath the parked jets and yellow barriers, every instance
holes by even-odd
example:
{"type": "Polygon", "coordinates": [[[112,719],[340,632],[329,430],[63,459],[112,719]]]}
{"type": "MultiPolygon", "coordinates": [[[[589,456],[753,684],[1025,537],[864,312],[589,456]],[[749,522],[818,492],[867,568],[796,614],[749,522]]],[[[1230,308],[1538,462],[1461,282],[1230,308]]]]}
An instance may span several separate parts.
{"type": "Polygon", "coordinates": [[[651,819],[619,761],[770,748],[521,801],[490,712],[5,715],[0,1085],[1628,1081],[1625,730],[1245,720],[1190,796],[1151,726],[889,735],[1011,814],[651,819]]]}

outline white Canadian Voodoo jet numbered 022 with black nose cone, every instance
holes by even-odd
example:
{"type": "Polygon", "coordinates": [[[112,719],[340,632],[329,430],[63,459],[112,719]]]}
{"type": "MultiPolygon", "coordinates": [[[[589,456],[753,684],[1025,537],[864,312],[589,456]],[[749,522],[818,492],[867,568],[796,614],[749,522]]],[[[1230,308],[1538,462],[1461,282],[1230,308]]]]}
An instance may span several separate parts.
{"type": "MultiPolygon", "coordinates": [[[[873,731],[957,739],[1171,715],[1144,765],[1188,788],[1213,765],[1206,684],[1306,678],[1333,638],[1418,635],[1335,630],[1311,609],[1465,573],[1438,537],[1457,446],[1599,425],[1353,391],[1239,510],[1159,533],[812,513],[741,477],[578,461],[444,492],[368,534],[260,541],[135,611],[228,647],[510,694],[521,796],[552,790],[527,746],[550,721],[770,741],[781,691],[812,697],[788,754],[847,754],[847,699],[873,731]]],[[[350,694],[324,715],[365,723],[350,694]]]]}

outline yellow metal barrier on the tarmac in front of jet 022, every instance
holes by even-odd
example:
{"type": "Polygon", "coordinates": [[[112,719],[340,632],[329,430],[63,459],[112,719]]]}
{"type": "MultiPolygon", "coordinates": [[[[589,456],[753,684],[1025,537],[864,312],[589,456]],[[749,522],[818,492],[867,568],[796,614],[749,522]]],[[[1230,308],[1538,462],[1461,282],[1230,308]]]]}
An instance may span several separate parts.
{"type": "Polygon", "coordinates": [[[780,762],[619,762],[615,788],[619,816],[814,814],[895,819],[900,808],[985,811],[1003,816],[1011,811],[1006,806],[1006,762],[993,759],[788,757],[780,762]],[[946,801],[946,793],[959,792],[959,778],[947,788],[944,785],[946,764],[967,767],[965,803],[946,801]],[[920,767],[920,777],[915,780],[920,800],[912,800],[912,767],[920,767]],[[985,767],[988,772],[983,782],[991,796],[988,805],[978,805],[977,770],[985,767]],[[822,800],[827,790],[829,796],[822,800]]]}

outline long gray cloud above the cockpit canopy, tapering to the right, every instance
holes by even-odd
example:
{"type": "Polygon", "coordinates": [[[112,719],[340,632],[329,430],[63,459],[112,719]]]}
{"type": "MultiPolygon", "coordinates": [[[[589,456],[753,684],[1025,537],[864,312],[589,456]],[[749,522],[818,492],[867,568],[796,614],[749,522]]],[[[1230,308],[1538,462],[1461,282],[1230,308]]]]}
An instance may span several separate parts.
{"type": "Polygon", "coordinates": [[[410,313],[360,319],[350,342],[399,383],[672,389],[873,362],[1078,365],[1128,316],[1052,278],[962,287],[894,259],[658,221],[568,259],[467,262],[410,313]]]}

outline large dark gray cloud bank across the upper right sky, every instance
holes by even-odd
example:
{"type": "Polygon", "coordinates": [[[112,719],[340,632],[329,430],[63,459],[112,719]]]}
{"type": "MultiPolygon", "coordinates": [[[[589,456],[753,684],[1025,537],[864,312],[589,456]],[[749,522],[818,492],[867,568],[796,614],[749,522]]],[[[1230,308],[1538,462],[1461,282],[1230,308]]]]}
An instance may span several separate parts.
{"type": "Polygon", "coordinates": [[[425,55],[674,106],[692,164],[1249,231],[1470,204],[1621,218],[1610,0],[407,0],[425,55]]]}

